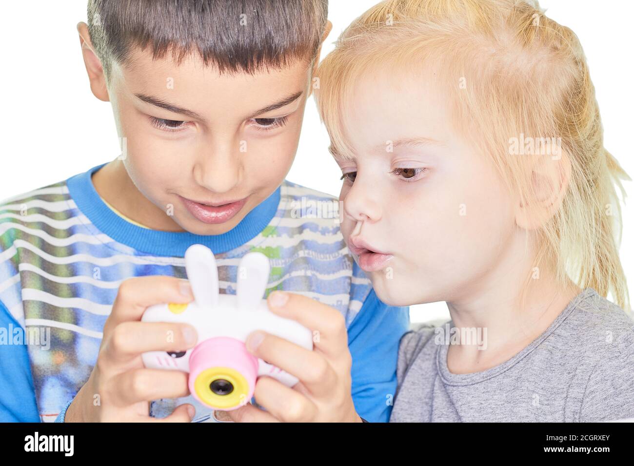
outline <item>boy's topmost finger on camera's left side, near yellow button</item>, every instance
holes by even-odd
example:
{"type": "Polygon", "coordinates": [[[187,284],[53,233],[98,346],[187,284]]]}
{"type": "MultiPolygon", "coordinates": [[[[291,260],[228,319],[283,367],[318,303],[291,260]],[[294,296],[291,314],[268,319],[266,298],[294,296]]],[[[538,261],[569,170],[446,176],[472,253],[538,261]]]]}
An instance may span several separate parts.
{"type": "Polygon", "coordinates": [[[103,332],[107,333],[121,322],[141,320],[145,309],[153,304],[190,301],[193,294],[187,280],[162,275],[128,278],[119,286],[103,332]]]}

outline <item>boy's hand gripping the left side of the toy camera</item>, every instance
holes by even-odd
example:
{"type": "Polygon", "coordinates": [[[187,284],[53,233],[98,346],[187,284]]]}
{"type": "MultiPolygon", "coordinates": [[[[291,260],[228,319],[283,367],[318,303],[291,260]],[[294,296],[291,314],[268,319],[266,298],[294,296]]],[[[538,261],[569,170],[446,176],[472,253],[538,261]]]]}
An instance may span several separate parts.
{"type": "Polygon", "coordinates": [[[183,323],[140,320],[153,304],[192,300],[186,280],[144,276],[122,282],[103,328],[93,372],[68,406],[65,422],[190,422],[195,413],[191,405],[178,406],[165,419],[150,417],[153,399],[178,398],[190,392],[186,373],[146,369],[141,353],[190,349],[196,344],[196,330],[183,323]]]}

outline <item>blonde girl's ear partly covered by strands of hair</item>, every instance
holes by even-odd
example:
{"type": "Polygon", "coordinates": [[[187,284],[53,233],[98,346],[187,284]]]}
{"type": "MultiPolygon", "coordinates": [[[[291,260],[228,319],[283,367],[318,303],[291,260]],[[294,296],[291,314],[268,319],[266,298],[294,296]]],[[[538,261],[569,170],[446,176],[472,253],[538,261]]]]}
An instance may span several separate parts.
{"type": "Polygon", "coordinates": [[[524,230],[537,230],[557,213],[570,181],[570,157],[562,147],[547,143],[540,152],[529,166],[526,198],[515,207],[515,223],[524,230]]]}

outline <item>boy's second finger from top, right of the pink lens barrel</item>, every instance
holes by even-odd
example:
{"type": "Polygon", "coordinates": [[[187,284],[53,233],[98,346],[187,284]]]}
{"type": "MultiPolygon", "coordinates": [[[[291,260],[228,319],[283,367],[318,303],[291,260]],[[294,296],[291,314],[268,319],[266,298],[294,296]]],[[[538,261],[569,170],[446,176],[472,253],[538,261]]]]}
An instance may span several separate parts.
{"type": "MultiPolygon", "coordinates": [[[[261,330],[250,333],[249,337],[247,337],[247,349],[254,356],[262,358],[269,364],[278,366],[281,370],[285,370],[297,377],[307,391],[314,396],[328,396],[332,391],[332,387],[337,384],[337,374],[330,366],[330,362],[323,354],[317,351],[309,351],[288,340],[261,330]],[[251,337],[256,337],[256,341],[259,340],[256,333],[261,333],[262,339],[257,344],[257,347],[253,347],[252,342],[254,339],[251,337]]],[[[295,393],[295,391],[293,392],[295,393]]],[[[259,398],[257,400],[260,403],[259,398]]]]}

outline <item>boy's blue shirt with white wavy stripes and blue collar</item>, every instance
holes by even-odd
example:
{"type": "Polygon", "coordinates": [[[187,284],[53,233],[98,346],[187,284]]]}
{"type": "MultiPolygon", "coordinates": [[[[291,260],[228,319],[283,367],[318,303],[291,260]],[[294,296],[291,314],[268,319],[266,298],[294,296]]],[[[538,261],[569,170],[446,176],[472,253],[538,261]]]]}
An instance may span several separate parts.
{"type": "MultiPolygon", "coordinates": [[[[91,176],[102,166],[0,202],[0,421],[55,420],[93,370],[122,280],[186,278],[184,251],[201,243],[216,256],[221,293],[235,294],[240,258],[258,250],[271,263],[267,293],[297,292],[338,309],[356,409],[387,422],[408,308],[374,294],[337,212],[324,214],[335,198],[284,181],[222,235],[148,230],[101,200],[91,176]]],[[[153,401],[151,414],[164,417],[182,403],[197,408],[195,421],[212,420],[191,396],[153,401]]]]}

